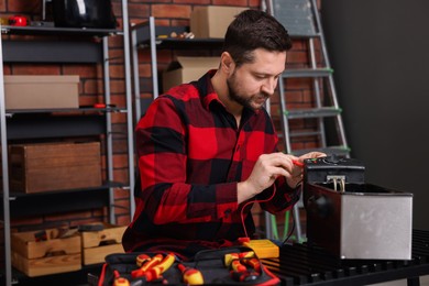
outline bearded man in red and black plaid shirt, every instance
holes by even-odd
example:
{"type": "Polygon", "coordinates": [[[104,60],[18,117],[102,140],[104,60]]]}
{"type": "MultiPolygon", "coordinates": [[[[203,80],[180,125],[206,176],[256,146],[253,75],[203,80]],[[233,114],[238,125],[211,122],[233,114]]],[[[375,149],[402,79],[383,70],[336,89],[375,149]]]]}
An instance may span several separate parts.
{"type": "Polygon", "coordinates": [[[292,41],[257,10],[230,24],[218,70],[158,97],[136,127],[141,191],[122,243],[183,258],[231,246],[255,230],[251,208],[272,213],[299,199],[300,157],[276,152],[264,109],[285,69],[292,41]],[[295,164],[294,164],[295,161],[295,164]]]}

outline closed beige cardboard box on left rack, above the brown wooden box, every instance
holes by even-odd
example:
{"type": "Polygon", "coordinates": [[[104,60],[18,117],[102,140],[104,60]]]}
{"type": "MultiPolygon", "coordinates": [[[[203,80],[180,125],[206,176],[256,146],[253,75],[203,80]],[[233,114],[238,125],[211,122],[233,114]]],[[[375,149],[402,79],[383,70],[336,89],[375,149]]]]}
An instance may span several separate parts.
{"type": "Polygon", "coordinates": [[[79,108],[79,76],[4,76],[6,109],[79,108]]]}

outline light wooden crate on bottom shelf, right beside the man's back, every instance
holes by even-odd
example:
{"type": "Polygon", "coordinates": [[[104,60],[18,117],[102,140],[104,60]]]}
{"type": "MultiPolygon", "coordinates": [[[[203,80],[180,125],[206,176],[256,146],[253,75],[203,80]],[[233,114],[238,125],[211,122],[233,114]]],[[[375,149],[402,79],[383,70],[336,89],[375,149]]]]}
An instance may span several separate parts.
{"type": "Polygon", "coordinates": [[[82,264],[105,263],[112,253],[124,253],[122,235],[127,227],[103,223],[103,230],[81,232],[82,264]]]}

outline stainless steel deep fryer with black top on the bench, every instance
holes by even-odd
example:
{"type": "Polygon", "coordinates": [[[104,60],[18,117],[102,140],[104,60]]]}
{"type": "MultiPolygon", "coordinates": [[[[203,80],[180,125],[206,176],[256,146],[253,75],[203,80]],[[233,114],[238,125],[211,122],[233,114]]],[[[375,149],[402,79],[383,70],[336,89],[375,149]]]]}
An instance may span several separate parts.
{"type": "Polygon", "coordinates": [[[307,240],[340,258],[410,260],[413,194],[367,184],[356,160],[307,160],[307,240]]]}

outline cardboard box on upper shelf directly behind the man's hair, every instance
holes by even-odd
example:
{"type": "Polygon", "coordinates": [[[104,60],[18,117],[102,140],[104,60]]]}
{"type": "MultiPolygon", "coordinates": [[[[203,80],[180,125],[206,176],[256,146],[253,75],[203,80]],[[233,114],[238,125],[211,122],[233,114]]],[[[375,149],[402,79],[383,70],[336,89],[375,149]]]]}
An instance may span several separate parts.
{"type": "Polygon", "coordinates": [[[248,9],[229,6],[196,7],[190,13],[190,32],[195,37],[223,38],[235,15],[248,9]]]}

